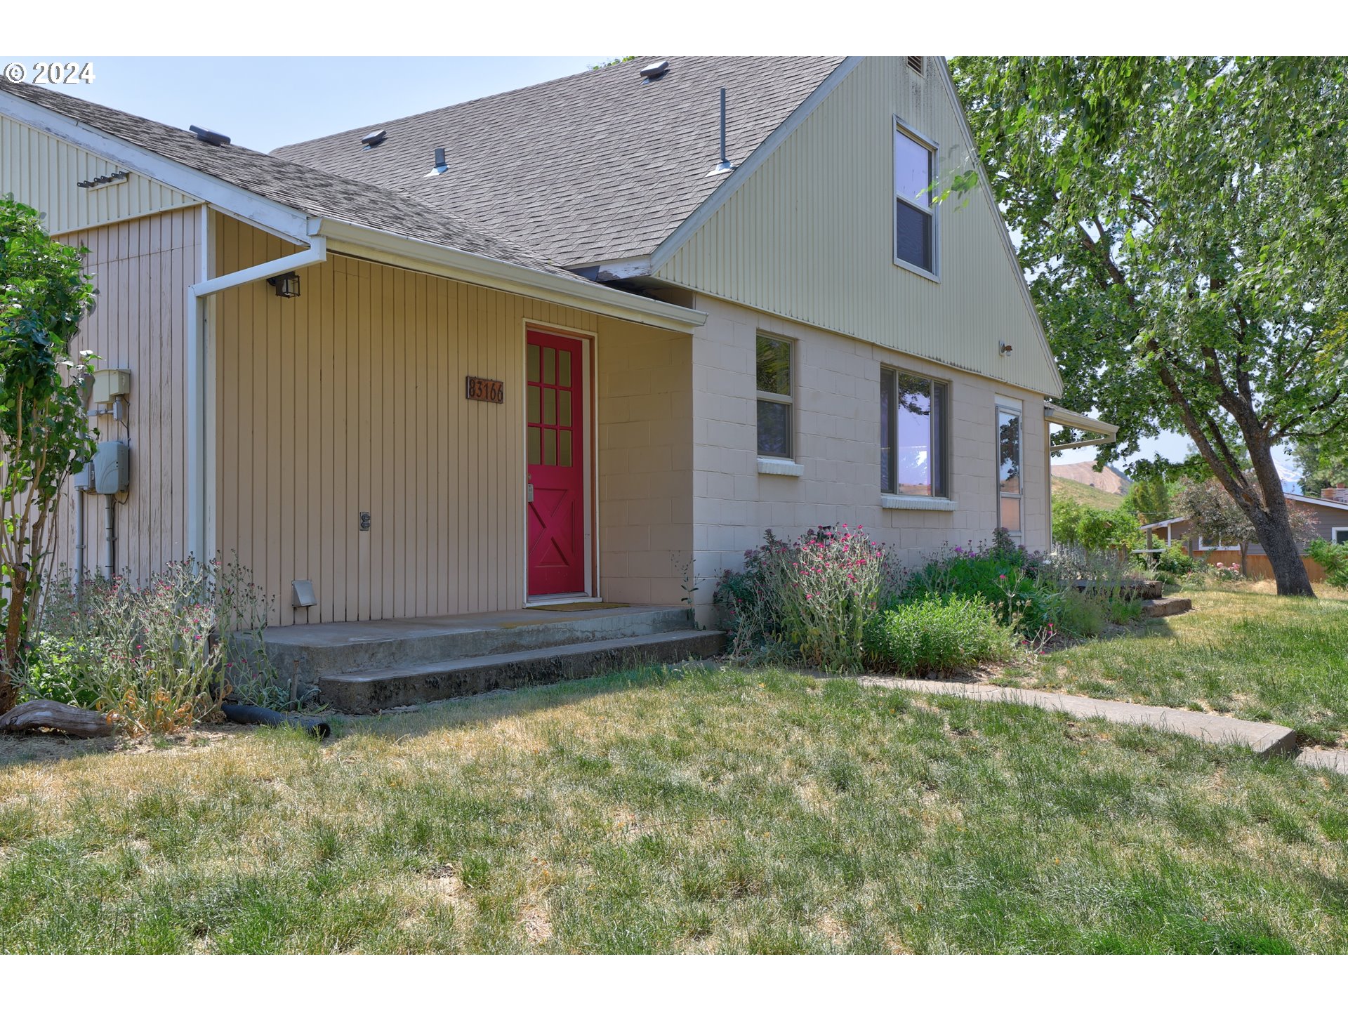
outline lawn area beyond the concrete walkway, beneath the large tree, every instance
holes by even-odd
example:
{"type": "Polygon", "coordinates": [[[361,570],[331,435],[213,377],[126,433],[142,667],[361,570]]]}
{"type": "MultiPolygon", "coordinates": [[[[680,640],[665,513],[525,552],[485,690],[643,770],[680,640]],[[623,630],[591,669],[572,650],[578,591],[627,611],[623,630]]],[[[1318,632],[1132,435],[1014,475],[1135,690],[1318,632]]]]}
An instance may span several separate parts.
{"type": "Polygon", "coordinates": [[[1270,584],[1173,596],[1194,611],[1045,656],[1007,683],[1279,723],[1348,745],[1348,593],[1278,597],[1270,584]]]}

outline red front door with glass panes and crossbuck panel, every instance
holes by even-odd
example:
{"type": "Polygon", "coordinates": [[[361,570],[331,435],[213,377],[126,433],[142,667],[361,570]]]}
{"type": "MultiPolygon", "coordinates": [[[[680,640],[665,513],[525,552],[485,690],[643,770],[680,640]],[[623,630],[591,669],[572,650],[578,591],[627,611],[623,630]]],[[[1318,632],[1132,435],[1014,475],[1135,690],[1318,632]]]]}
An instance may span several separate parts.
{"type": "Polygon", "coordinates": [[[585,592],[581,342],[530,333],[524,348],[528,593],[585,592]]]}

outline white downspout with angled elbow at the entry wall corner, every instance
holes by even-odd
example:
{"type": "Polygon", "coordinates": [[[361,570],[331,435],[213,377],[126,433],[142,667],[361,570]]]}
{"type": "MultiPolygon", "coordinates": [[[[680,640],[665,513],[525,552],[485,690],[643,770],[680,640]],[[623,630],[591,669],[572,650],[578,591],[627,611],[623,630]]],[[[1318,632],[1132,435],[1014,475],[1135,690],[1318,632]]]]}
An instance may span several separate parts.
{"type": "Polygon", "coordinates": [[[201,256],[197,283],[187,286],[187,554],[206,562],[206,299],[217,291],[266,280],[286,271],[311,267],[328,259],[328,240],[317,235],[319,221],[309,220],[307,249],[276,260],[208,278],[210,210],[201,209],[201,256]]]}

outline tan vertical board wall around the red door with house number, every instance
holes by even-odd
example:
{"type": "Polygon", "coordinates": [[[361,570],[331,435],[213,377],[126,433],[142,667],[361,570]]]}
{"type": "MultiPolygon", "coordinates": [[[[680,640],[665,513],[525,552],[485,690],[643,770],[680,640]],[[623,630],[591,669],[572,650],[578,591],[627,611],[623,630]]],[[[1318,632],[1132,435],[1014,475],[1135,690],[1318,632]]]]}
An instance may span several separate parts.
{"type": "MultiPolygon", "coordinates": [[[[218,274],[288,252],[218,218],[218,274]]],[[[299,275],[299,298],[276,298],[266,282],[213,297],[217,543],[275,594],[275,621],[524,601],[526,321],[596,345],[599,515],[621,519],[600,530],[600,592],[678,603],[671,555],[692,550],[687,336],[349,256],[299,275]],[[466,400],[465,375],[504,380],[506,403],[466,400]],[[615,453],[604,442],[609,411],[644,412],[644,441],[615,453]],[[623,496],[621,508],[607,495],[623,496]],[[372,514],[368,532],[357,530],[361,511],[372,514]],[[621,573],[612,590],[609,566],[621,573]],[[297,578],[318,594],[307,612],[290,607],[297,578]]]]}

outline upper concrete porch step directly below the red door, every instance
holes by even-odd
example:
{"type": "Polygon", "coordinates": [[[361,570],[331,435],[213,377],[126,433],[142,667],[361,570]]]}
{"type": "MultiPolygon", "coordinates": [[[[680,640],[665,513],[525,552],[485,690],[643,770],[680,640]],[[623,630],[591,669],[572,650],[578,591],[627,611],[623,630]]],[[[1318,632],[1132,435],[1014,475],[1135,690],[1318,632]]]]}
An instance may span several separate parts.
{"type": "Polygon", "coordinates": [[[543,650],[634,635],[686,631],[686,608],[496,611],[481,615],[340,621],[268,628],[267,655],[287,679],[314,685],[328,674],[387,670],[470,656],[543,650]]]}

